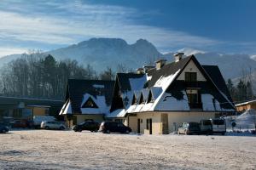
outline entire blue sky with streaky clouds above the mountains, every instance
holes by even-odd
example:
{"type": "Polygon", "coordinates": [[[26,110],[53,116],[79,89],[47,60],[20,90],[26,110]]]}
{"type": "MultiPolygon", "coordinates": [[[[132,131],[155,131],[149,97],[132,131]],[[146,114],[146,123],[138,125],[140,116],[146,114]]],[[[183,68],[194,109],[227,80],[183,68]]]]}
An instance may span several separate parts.
{"type": "Polygon", "coordinates": [[[160,52],[256,54],[255,8],[253,0],[1,0],[0,56],[90,37],[144,38],[160,52]]]}

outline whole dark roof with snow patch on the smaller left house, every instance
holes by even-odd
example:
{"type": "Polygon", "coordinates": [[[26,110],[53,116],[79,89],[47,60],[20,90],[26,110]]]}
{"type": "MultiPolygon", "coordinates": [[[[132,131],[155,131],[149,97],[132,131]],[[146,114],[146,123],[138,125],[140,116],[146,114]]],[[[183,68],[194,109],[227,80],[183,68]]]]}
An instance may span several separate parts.
{"type": "MultiPolygon", "coordinates": [[[[70,79],[67,83],[66,100],[70,101],[72,114],[105,114],[109,111],[113,95],[113,81],[70,79]],[[84,108],[88,100],[97,108],[84,108]]],[[[65,105],[63,105],[65,106],[65,105]]]]}

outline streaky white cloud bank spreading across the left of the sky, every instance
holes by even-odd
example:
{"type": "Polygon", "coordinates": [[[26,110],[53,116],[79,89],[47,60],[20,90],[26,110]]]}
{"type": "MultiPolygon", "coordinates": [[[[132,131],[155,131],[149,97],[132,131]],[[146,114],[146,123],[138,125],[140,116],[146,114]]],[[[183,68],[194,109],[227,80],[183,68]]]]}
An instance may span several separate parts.
{"type": "Polygon", "coordinates": [[[160,49],[191,47],[191,44],[194,48],[200,48],[219,43],[183,31],[143,25],[142,15],[145,16],[136,8],[79,0],[33,3],[3,0],[0,8],[0,41],[7,38],[14,44],[40,42],[67,45],[90,37],[120,37],[128,42],[145,38],[160,49]]]}

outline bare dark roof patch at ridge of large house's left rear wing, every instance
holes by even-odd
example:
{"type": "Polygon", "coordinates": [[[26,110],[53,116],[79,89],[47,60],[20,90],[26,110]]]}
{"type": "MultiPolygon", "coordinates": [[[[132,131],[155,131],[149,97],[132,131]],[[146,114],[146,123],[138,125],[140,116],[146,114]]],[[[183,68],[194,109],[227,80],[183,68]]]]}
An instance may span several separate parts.
{"type": "Polygon", "coordinates": [[[119,88],[122,92],[131,91],[131,84],[129,78],[141,78],[144,77],[144,74],[136,73],[117,73],[116,76],[119,82],[119,88]]]}

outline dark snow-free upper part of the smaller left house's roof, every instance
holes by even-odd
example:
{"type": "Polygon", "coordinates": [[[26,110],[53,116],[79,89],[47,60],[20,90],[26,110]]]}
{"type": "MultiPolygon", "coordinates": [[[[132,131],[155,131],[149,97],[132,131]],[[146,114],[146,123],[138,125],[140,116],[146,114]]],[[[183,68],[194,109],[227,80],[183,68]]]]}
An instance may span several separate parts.
{"type": "Polygon", "coordinates": [[[84,94],[90,94],[94,97],[103,95],[105,96],[106,104],[111,105],[113,84],[113,81],[69,79],[66,99],[70,99],[73,113],[81,113],[80,106],[84,94]],[[104,86],[104,88],[97,88],[97,86],[104,86]]]}

